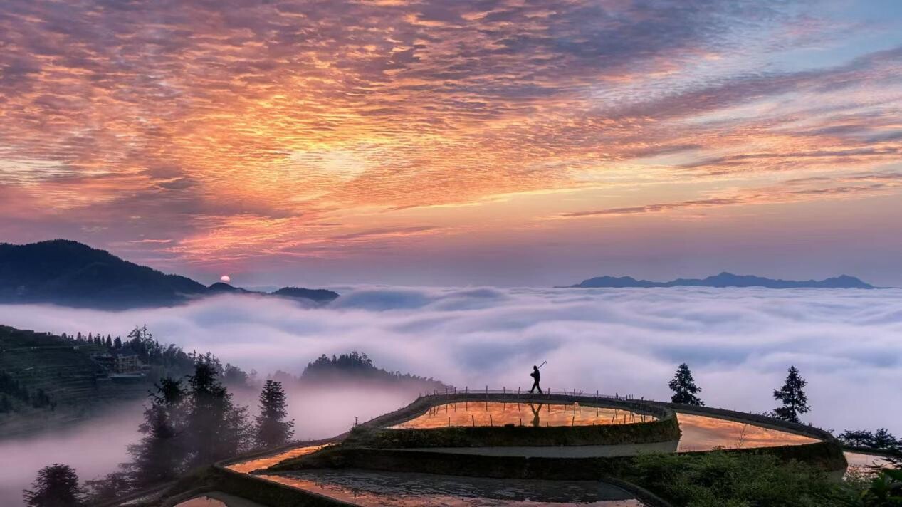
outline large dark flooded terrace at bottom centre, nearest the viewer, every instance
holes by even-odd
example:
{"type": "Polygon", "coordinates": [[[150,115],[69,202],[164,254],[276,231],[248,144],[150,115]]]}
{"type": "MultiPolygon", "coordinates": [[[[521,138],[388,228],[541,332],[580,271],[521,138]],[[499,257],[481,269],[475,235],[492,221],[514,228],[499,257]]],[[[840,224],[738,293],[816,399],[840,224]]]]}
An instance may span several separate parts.
{"type": "Polygon", "coordinates": [[[524,481],[346,469],[309,470],[290,475],[266,475],[266,478],[365,507],[643,505],[629,492],[595,481],[524,481]]]}

